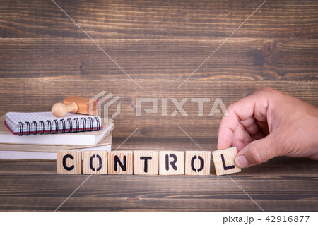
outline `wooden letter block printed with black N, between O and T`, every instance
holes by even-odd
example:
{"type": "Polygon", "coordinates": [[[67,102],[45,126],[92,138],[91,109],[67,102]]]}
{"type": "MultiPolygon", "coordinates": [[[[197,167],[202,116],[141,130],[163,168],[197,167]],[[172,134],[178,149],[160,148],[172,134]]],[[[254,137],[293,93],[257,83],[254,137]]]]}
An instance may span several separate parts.
{"type": "Polygon", "coordinates": [[[133,174],[133,152],[108,153],[108,174],[133,174]]]}

